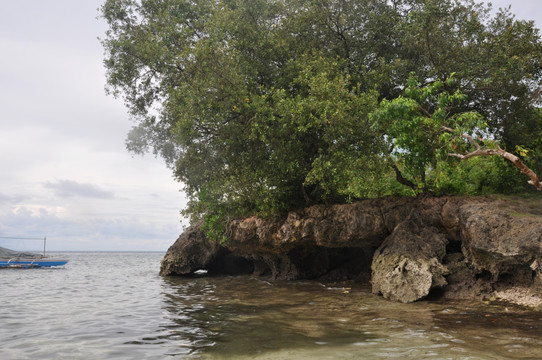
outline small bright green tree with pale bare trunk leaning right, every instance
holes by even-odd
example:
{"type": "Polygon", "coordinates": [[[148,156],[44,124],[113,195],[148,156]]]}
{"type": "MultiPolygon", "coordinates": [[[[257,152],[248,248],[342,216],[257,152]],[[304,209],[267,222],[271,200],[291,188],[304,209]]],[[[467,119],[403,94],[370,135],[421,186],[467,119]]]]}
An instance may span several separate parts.
{"type": "MultiPolygon", "coordinates": [[[[518,156],[501,148],[486,120],[476,111],[462,110],[467,96],[457,89],[454,75],[421,86],[412,76],[404,96],[383,100],[371,114],[375,126],[386,134],[392,156],[412,180],[401,176],[404,185],[425,191],[435,190],[439,170],[450,166],[450,158],[468,160],[476,156],[500,156],[511,162],[542,190],[536,173],[518,156]],[[433,183],[427,174],[432,173],[433,183]]],[[[519,151],[526,155],[525,149],[519,151]]],[[[452,165],[453,166],[453,165],[452,165]]]]}

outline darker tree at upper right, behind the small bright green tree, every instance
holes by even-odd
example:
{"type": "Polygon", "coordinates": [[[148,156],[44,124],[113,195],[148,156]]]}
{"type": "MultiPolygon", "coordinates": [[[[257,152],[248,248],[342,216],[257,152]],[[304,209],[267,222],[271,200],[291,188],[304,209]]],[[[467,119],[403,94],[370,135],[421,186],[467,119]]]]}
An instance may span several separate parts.
{"type": "Polygon", "coordinates": [[[527,145],[540,131],[533,105],[540,104],[542,42],[534,23],[516,21],[510,8],[492,18],[472,0],[401,3],[410,4],[400,26],[405,70],[422,83],[455,73],[465,109],[484,116],[507,148],[527,145]]]}

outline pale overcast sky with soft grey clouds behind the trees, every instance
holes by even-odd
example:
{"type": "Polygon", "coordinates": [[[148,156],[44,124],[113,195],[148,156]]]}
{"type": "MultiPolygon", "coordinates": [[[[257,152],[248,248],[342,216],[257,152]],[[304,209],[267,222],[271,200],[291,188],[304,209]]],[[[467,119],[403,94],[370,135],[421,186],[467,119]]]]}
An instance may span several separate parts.
{"type": "MultiPolygon", "coordinates": [[[[542,25],[542,1],[512,5],[542,25]]],[[[107,96],[102,0],[0,0],[0,246],[166,251],[187,220],[172,172],[125,148],[135,125],[107,96]]]]}

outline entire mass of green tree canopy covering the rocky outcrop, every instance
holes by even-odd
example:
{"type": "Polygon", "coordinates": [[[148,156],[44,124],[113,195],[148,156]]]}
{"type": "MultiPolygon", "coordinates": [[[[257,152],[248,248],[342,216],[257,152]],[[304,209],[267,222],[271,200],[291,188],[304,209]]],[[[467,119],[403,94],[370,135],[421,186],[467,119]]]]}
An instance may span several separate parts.
{"type": "Polygon", "coordinates": [[[480,138],[542,170],[539,30],[490,10],[107,0],[107,89],[136,122],[128,149],[162,156],[217,236],[307,204],[524,188],[502,156],[465,157],[480,138]]]}

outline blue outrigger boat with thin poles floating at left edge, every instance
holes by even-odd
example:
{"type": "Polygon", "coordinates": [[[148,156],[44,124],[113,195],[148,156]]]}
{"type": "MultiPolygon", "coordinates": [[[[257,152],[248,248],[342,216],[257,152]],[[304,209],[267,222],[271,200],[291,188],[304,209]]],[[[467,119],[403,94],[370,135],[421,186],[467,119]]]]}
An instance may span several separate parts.
{"type": "MultiPolygon", "coordinates": [[[[6,238],[4,238],[6,239],[6,238]]],[[[9,238],[24,240],[43,240],[43,254],[20,252],[0,247],[0,268],[32,269],[42,267],[64,266],[69,260],[45,256],[46,238],[9,238]]]]}

